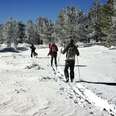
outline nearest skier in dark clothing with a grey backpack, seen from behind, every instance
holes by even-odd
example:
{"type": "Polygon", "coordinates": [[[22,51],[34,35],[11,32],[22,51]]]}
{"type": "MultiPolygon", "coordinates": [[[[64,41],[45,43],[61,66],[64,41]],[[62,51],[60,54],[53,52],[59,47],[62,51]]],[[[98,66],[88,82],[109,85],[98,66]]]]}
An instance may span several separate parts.
{"type": "Polygon", "coordinates": [[[71,82],[73,82],[75,55],[79,56],[79,50],[77,49],[76,45],[74,44],[74,40],[70,39],[70,43],[61,52],[63,54],[66,53],[65,68],[64,68],[64,75],[66,78],[66,82],[69,82],[69,72],[68,72],[69,68],[70,68],[70,80],[71,80],[71,82]]]}

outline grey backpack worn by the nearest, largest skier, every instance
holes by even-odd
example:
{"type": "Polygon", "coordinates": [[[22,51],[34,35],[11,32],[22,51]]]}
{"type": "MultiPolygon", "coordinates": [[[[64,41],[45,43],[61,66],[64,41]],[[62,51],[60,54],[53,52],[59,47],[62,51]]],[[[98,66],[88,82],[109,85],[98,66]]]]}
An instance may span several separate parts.
{"type": "Polygon", "coordinates": [[[75,59],[75,46],[69,46],[66,57],[69,60],[75,59]]]}

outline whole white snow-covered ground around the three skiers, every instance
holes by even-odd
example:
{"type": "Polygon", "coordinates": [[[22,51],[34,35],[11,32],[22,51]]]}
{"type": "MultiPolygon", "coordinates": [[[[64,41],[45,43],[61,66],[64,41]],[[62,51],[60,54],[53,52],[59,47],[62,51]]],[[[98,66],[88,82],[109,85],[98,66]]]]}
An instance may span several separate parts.
{"type": "Polygon", "coordinates": [[[79,48],[73,83],[64,82],[65,55],[54,73],[48,48],[36,51],[0,52],[0,116],[116,116],[115,49],[79,48]]]}

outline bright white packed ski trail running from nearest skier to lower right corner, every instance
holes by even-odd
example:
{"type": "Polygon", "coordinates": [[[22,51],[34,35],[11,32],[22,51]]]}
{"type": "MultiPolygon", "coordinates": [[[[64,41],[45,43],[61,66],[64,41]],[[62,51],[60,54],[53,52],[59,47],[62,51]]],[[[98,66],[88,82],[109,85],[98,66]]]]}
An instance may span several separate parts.
{"type": "MultiPolygon", "coordinates": [[[[61,75],[62,73],[60,73],[60,75],[58,74],[58,77],[60,79],[62,79],[61,75]]],[[[101,111],[107,111],[111,116],[116,115],[116,105],[109,104],[107,100],[98,97],[95,93],[82,86],[82,84],[80,84],[79,82],[67,84],[69,85],[69,88],[72,89],[75,96],[78,96],[78,98],[81,98],[85,102],[98,107],[101,111]]]]}

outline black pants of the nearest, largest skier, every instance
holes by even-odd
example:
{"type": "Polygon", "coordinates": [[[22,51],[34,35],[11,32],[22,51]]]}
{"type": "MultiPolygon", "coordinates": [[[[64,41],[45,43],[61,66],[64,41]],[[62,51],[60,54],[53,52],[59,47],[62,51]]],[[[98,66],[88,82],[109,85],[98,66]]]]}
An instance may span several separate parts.
{"type": "Polygon", "coordinates": [[[71,82],[73,82],[74,80],[74,66],[75,66],[74,60],[65,61],[64,74],[67,82],[69,81],[69,71],[68,71],[69,68],[70,68],[70,80],[71,82]]]}

